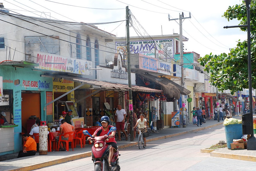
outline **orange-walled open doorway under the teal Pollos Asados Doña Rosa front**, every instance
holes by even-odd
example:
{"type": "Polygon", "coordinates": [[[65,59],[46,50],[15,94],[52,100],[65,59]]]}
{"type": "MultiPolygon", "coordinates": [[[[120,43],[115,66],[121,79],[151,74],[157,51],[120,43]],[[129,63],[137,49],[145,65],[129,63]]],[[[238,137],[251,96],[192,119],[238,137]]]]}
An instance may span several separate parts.
{"type": "Polygon", "coordinates": [[[41,92],[22,91],[21,98],[22,132],[29,133],[32,125],[36,122],[35,118],[41,119],[41,92]],[[35,117],[33,119],[29,119],[32,115],[35,117]]]}

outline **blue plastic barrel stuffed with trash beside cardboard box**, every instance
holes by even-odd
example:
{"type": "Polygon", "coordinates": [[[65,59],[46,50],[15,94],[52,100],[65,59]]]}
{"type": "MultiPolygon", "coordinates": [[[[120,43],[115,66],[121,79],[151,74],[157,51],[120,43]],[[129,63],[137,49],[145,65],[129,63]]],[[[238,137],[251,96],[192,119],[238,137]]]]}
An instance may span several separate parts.
{"type": "Polygon", "coordinates": [[[231,149],[230,143],[233,143],[233,139],[241,139],[243,136],[242,124],[226,125],[225,133],[228,149],[231,149]]]}

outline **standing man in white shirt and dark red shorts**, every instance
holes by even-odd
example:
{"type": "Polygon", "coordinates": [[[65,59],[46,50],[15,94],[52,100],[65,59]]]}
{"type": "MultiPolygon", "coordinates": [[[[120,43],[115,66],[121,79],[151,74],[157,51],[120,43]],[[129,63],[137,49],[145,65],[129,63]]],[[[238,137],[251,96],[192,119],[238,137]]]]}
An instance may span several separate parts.
{"type": "Polygon", "coordinates": [[[121,141],[121,130],[125,135],[125,140],[128,140],[128,136],[126,135],[126,132],[124,131],[124,120],[125,120],[126,112],[124,109],[122,109],[121,105],[117,105],[117,110],[115,114],[115,120],[116,120],[116,129],[118,131],[118,140],[121,141]]]}

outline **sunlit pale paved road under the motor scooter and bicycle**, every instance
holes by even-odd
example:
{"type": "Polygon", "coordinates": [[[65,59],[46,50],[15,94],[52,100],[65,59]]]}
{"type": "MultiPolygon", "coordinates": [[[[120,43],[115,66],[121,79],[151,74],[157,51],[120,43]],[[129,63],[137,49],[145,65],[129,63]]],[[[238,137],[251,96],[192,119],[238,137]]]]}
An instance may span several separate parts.
{"type": "MultiPolygon", "coordinates": [[[[225,140],[225,130],[222,125],[211,129],[188,133],[172,138],[161,139],[147,143],[145,149],[138,146],[120,150],[120,166],[122,171],[130,170],[255,170],[256,163],[241,160],[210,157],[210,154],[200,153],[200,149],[215,145],[219,140],[225,140]]],[[[49,170],[92,171],[91,157],[38,169],[49,170]]]]}

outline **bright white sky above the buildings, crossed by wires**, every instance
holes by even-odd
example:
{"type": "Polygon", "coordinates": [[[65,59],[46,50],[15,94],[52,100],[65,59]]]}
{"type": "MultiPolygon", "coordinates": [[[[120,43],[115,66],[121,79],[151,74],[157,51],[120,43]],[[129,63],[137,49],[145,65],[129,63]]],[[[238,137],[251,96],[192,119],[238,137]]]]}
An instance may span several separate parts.
{"type": "Polygon", "coordinates": [[[179,14],[184,12],[182,22],[184,52],[194,51],[200,56],[228,53],[236,47],[238,40],[246,40],[247,33],[236,26],[237,20],[227,21],[222,17],[228,6],[241,4],[242,0],[0,0],[10,13],[27,16],[59,19],[72,22],[105,23],[95,24],[99,29],[126,36],[125,8],[132,13],[130,36],[179,34],[179,14]],[[120,21],[120,22],[116,22],[120,21]],[[112,23],[116,22],[116,23],[112,23]],[[135,28],[135,29],[134,29],[135,28]],[[135,31],[136,30],[136,31],[135,31]]]}

